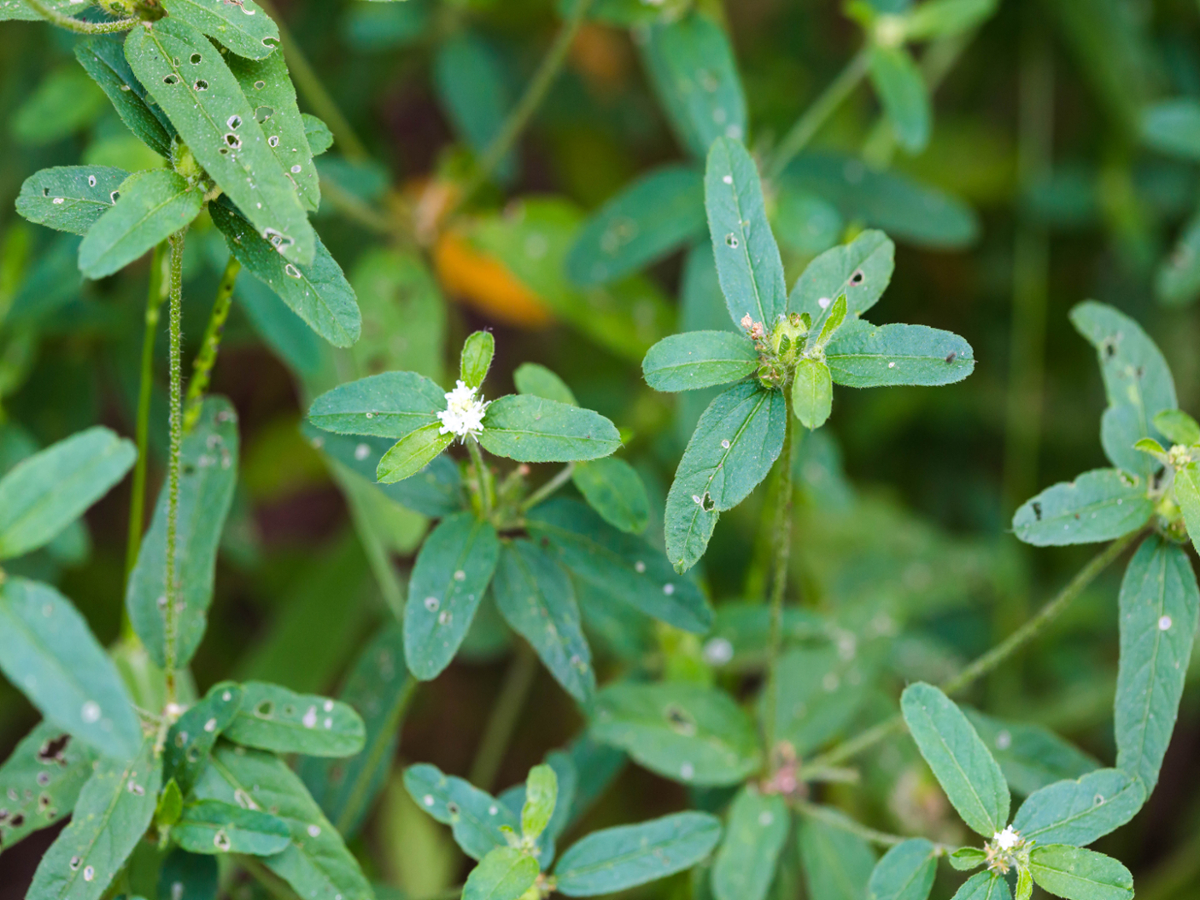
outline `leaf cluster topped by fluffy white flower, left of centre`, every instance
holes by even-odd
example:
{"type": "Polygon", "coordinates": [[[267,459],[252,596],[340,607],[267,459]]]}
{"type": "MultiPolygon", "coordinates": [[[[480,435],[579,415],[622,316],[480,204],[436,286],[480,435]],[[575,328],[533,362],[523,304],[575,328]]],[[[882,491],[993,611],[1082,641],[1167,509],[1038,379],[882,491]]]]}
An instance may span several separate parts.
{"type": "Polygon", "coordinates": [[[541,366],[517,370],[518,394],[484,401],[492,354],[491,334],[468,337],[452,391],[415,372],[343,384],[313,402],[307,433],[338,464],[377,478],[403,505],[439,520],[416,556],[403,612],[416,678],[436,678],[450,665],[491,598],[563,688],[588,702],[595,672],[577,592],[694,632],[707,631],[712,611],[700,588],[676,577],[661,551],[638,536],[649,504],[634,469],[607,458],[620,446],[616,426],[581,408],[541,366]],[[456,432],[456,416],[472,404],[478,427],[456,432]],[[460,438],[518,463],[571,463],[587,505],[540,502],[526,485],[527,467],[498,481],[481,452],[463,479],[443,452],[460,438]]]}

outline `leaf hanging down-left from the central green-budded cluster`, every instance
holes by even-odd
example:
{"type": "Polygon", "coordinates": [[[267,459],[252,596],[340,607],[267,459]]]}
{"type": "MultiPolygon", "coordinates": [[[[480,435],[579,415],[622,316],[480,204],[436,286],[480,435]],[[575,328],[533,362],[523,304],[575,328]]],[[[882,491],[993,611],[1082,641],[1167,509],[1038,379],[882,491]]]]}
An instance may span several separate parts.
{"type": "Polygon", "coordinates": [[[757,487],[784,449],[781,391],[736,384],[708,404],[667,494],[667,557],[679,572],[704,554],[718,516],[757,487]]]}

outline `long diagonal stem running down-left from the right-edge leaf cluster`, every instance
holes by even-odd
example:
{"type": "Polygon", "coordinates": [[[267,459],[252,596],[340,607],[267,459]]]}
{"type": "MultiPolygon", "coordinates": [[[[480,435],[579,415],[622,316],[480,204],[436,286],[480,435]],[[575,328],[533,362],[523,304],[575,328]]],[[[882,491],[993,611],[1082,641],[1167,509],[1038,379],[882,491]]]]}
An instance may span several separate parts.
{"type": "MultiPolygon", "coordinates": [[[[1072,578],[1067,586],[1060,590],[1057,595],[1055,595],[1054,599],[1038,610],[1033,618],[1009,635],[1007,640],[996,644],[996,647],[976,659],[974,662],[968,665],[956,676],[947,682],[943,682],[941,685],[942,690],[947,694],[958,694],[964,688],[973,684],[976,680],[991,672],[996,668],[996,666],[1030,643],[1034,637],[1042,634],[1050,622],[1057,618],[1063,610],[1070,606],[1070,604],[1084,593],[1087,586],[1096,581],[1096,577],[1108,569],[1109,565],[1111,565],[1112,562],[1120,557],[1140,535],[1141,532],[1134,532],[1133,534],[1127,534],[1123,538],[1117,538],[1117,540],[1112,541],[1108,547],[1092,557],[1091,562],[1075,572],[1075,577],[1072,578]]],[[[875,746],[890,734],[902,730],[904,719],[900,715],[894,715],[893,718],[868,728],[857,737],[842,742],[833,750],[815,757],[811,762],[804,766],[804,769],[818,772],[839,766],[846,760],[850,760],[864,750],[869,750],[875,746]]],[[[806,773],[804,776],[806,776],[806,773]]]]}

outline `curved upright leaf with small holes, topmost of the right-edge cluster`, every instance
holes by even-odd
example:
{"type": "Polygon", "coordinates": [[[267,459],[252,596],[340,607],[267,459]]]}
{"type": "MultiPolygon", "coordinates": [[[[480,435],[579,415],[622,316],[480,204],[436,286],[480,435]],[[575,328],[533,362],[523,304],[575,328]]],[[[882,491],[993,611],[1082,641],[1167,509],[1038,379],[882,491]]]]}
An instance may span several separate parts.
{"type": "Polygon", "coordinates": [[[1075,329],[1097,349],[1109,408],[1100,419],[1100,443],[1114,466],[1148,482],[1158,463],[1134,449],[1158,437],[1154,416],[1175,409],[1175,382],[1166,360],[1136,322],[1111,306],[1087,301],[1070,311],[1075,329]]]}

